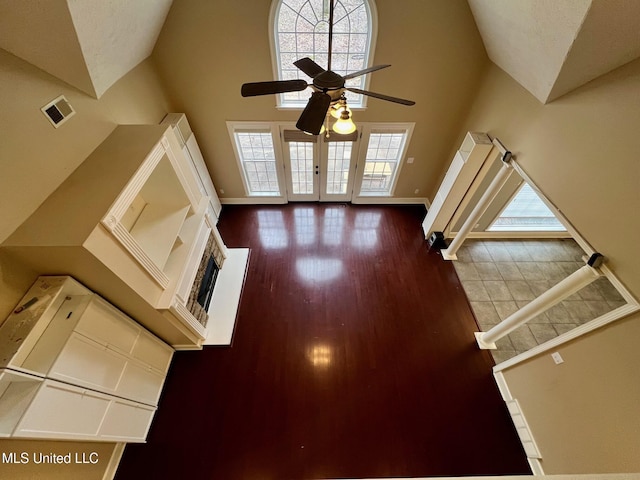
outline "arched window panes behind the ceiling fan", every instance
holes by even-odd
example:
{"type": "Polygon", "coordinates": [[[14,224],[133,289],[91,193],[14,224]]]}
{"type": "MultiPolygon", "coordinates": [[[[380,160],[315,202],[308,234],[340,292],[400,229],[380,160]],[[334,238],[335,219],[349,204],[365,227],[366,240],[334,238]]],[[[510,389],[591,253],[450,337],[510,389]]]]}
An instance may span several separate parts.
{"type": "MultiPolygon", "coordinates": [[[[272,47],[278,80],[311,79],[293,65],[309,57],[327,68],[329,49],[329,5],[335,1],[331,70],[340,74],[356,72],[371,65],[376,14],[373,0],[274,0],[272,7],[272,47]]],[[[368,75],[347,80],[347,85],[367,88],[368,75]]],[[[278,106],[304,107],[309,90],[278,95],[278,106]]],[[[362,107],[362,95],[348,93],[349,106],[362,107]]]]}

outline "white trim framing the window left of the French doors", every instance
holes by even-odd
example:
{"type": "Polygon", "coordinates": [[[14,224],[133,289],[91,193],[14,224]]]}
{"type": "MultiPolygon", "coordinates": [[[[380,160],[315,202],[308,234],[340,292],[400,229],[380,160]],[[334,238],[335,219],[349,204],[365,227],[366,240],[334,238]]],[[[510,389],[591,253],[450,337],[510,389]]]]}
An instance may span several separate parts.
{"type": "Polygon", "coordinates": [[[242,186],[244,187],[245,197],[252,200],[264,199],[271,203],[275,200],[285,202],[286,201],[286,183],[283,166],[283,154],[282,154],[282,142],[280,141],[280,130],[278,124],[275,122],[227,122],[227,130],[229,132],[229,138],[233,147],[233,153],[236,157],[236,165],[238,166],[238,173],[242,178],[242,186]],[[273,150],[275,154],[276,173],[278,177],[278,186],[280,187],[279,195],[260,195],[251,193],[247,177],[245,175],[244,166],[242,165],[242,158],[238,145],[236,143],[235,133],[238,130],[262,130],[271,132],[271,138],[273,142],[273,150]]]}

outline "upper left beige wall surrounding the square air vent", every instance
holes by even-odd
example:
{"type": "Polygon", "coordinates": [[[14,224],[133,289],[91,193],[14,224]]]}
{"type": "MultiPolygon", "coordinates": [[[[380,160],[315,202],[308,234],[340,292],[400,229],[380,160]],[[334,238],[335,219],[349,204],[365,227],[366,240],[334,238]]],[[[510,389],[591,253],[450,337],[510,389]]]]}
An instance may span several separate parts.
{"type": "Polygon", "coordinates": [[[100,100],[0,49],[0,242],[119,123],[159,123],[169,102],[150,61],[100,100]],[[51,126],[40,107],[64,94],[76,115],[51,126]]]}

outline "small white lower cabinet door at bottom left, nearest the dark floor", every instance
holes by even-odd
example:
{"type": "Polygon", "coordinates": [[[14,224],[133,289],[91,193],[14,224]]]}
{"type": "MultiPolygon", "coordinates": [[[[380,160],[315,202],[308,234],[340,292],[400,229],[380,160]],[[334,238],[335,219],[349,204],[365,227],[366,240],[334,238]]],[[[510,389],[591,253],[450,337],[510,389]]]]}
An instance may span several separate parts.
{"type": "Polygon", "coordinates": [[[105,441],[144,442],[155,409],[114,399],[104,417],[100,438],[105,441]]]}

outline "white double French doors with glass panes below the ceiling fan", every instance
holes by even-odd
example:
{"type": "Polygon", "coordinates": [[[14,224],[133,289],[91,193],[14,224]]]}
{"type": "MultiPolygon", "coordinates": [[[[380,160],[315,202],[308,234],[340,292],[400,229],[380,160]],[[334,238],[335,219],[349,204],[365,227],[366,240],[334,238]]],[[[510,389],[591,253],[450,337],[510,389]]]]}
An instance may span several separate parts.
{"type": "Polygon", "coordinates": [[[357,135],[332,135],[327,139],[287,129],[281,134],[288,201],[351,200],[357,135]]]}

